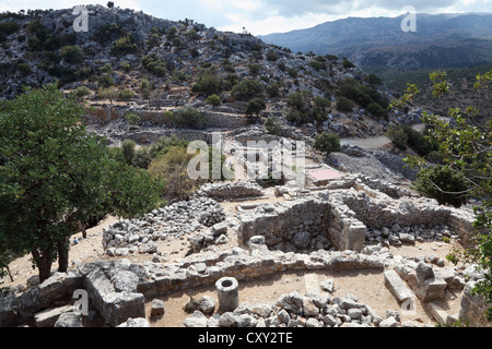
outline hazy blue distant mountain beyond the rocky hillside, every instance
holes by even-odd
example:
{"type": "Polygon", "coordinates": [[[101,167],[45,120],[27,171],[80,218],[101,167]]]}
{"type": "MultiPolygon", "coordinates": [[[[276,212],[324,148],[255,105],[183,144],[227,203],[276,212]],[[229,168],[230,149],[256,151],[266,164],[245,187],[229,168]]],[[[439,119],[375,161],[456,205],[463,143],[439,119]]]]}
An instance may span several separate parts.
{"type": "Polygon", "coordinates": [[[361,68],[492,63],[492,13],[417,14],[417,32],[401,31],[403,17],[348,17],[260,38],[295,52],[344,56],[361,68]]]}

